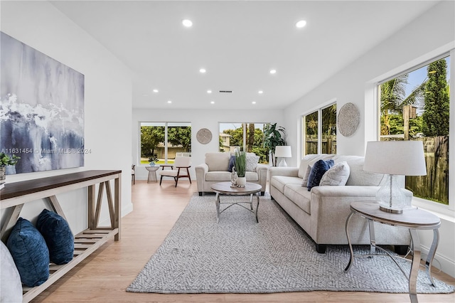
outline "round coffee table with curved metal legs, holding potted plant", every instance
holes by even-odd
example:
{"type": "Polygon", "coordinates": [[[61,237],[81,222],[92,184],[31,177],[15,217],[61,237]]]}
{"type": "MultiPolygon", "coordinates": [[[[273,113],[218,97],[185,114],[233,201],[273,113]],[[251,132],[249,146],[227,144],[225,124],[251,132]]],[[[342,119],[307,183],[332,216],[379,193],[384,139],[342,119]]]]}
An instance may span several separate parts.
{"type": "Polygon", "coordinates": [[[259,193],[261,192],[262,186],[259,184],[255,183],[250,183],[247,182],[245,184],[245,187],[231,187],[232,183],[231,182],[218,182],[215,184],[212,184],[210,188],[216,193],[216,198],[215,198],[215,205],[216,205],[216,222],[220,222],[220,214],[223,213],[226,209],[230,208],[233,205],[238,205],[242,206],[245,208],[247,211],[251,211],[252,213],[255,213],[256,215],[256,222],[259,223],[259,220],[257,219],[257,209],[259,208],[259,193]],[[256,211],[253,211],[253,194],[256,194],[257,197],[257,206],[256,206],[256,211]],[[247,196],[250,195],[250,202],[220,202],[220,195],[226,195],[226,196],[247,196]],[[246,208],[242,203],[247,203],[250,204],[250,208],[246,208]],[[220,204],[230,204],[226,208],[220,211],[220,204]]]}

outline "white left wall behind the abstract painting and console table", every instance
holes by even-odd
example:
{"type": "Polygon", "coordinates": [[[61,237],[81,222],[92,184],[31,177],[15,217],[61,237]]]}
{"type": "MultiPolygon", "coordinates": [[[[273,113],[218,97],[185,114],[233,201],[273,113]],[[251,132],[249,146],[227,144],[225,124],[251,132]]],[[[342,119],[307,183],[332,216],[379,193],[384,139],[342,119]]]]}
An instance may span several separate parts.
{"type": "MultiPolygon", "coordinates": [[[[46,1],[1,1],[1,31],[85,75],[85,166],[7,176],[8,182],[90,169],[121,169],[122,215],[131,203],[132,82],[129,70],[100,43],[46,1]]],[[[25,148],[25,147],[24,147],[25,148]]],[[[87,227],[87,193],[58,195],[73,233],[87,227]]],[[[34,221],[43,201],[28,203],[21,213],[34,221]]],[[[108,220],[103,208],[102,222],[108,220]]],[[[4,215],[4,213],[3,213],[4,215]]]]}

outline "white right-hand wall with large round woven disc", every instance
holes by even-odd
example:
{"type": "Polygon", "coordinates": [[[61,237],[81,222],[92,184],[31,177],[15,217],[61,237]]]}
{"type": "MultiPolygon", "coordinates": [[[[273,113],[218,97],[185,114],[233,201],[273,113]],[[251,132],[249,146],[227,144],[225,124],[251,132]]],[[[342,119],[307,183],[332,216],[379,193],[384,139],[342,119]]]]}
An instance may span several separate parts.
{"type": "MultiPolygon", "coordinates": [[[[337,153],[363,156],[365,142],[377,139],[375,135],[377,132],[374,131],[377,116],[373,112],[375,81],[392,77],[406,68],[412,68],[417,63],[423,63],[424,59],[430,60],[436,55],[455,48],[454,6],[454,1],[441,1],[287,107],[284,111],[286,122],[284,127],[287,128],[293,151],[299,150],[301,144],[301,116],[310,113],[321,104],[336,100],[338,110],[347,102],[352,102],[360,111],[360,125],[352,137],[343,137],[338,132],[337,153]]],[[[336,55],[336,49],[333,50],[333,55],[336,55]]],[[[299,159],[294,157],[288,161],[288,164],[297,165],[299,159]]],[[[454,202],[451,201],[451,203],[454,202]]],[[[441,238],[436,259],[441,263],[444,272],[455,277],[454,217],[453,214],[451,218],[442,217],[439,230],[441,238]]],[[[432,237],[427,233],[419,233],[419,235],[423,250],[428,250],[432,237]]],[[[438,262],[434,265],[438,266],[438,262]]]]}

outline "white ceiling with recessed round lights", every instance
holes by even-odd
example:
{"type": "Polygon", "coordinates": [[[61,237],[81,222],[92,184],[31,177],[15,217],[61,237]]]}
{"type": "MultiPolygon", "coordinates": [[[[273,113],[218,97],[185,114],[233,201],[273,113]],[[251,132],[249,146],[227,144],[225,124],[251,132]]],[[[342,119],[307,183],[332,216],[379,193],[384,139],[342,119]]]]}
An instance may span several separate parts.
{"type": "Polygon", "coordinates": [[[133,107],[154,109],[286,107],[436,3],[52,1],[132,70],[133,107]]]}

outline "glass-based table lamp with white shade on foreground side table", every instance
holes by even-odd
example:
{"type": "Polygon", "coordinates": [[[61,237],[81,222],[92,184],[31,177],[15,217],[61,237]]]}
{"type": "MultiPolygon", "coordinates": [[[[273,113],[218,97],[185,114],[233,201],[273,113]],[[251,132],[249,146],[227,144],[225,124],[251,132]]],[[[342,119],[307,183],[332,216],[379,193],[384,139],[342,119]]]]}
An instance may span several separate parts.
{"type": "Polygon", "coordinates": [[[368,142],[364,171],[388,174],[388,182],[376,193],[381,211],[402,213],[407,207],[405,193],[397,176],[424,176],[427,174],[422,141],[368,142]]]}

